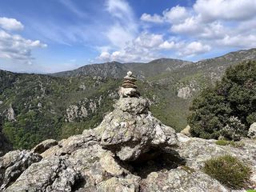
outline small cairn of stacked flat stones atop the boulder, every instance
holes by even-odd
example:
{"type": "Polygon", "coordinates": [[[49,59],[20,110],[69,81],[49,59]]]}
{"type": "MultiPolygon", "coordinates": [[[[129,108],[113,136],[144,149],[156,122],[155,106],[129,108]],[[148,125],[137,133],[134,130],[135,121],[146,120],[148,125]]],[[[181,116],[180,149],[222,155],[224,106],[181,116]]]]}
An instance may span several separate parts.
{"type": "Polygon", "coordinates": [[[131,71],[128,71],[126,77],[124,77],[124,81],[122,86],[118,92],[120,98],[139,98],[140,94],[137,90],[137,86],[134,82],[137,81],[131,71]]]}

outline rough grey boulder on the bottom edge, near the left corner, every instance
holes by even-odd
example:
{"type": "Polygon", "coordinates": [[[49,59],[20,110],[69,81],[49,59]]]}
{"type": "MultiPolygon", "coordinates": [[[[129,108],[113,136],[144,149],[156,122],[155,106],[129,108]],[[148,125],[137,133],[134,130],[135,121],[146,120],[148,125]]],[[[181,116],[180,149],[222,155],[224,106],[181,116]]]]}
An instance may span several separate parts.
{"type": "Polygon", "coordinates": [[[64,157],[53,157],[32,164],[5,191],[71,191],[80,178],[64,157]]]}

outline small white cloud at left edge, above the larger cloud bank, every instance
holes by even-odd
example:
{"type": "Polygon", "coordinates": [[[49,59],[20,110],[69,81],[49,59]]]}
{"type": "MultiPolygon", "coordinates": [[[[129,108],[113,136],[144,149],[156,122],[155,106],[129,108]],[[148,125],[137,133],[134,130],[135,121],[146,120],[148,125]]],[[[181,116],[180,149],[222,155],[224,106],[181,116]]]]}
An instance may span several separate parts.
{"type": "Polygon", "coordinates": [[[0,18],[0,28],[3,30],[23,30],[24,26],[15,18],[0,18]]]}

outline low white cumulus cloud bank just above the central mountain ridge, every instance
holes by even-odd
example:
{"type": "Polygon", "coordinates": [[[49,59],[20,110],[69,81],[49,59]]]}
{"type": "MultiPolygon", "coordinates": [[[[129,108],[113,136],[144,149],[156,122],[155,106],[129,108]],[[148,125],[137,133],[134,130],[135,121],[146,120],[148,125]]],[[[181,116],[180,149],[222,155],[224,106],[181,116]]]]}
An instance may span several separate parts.
{"type": "Polygon", "coordinates": [[[162,34],[142,33],[134,40],[128,42],[120,50],[103,50],[98,60],[102,62],[150,62],[156,58],[163,57],[162,50],[172,50],[179,57],[188,57],[196,54],[206,53],[210,46],[202,42],[179,42],[164,40],[162,34]]]}

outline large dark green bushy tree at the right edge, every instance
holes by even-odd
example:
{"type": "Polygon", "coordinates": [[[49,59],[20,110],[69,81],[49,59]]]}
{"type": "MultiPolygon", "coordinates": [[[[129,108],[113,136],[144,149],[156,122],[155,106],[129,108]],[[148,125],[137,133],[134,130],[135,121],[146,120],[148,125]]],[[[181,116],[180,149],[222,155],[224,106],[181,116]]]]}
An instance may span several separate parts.
{"type": "Polygon", "coordinates": [[[256,122],[256,62],[230,66],[222,80],[194,99],[188,118],[191,134],[239,140],[256,122]]]}

